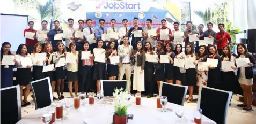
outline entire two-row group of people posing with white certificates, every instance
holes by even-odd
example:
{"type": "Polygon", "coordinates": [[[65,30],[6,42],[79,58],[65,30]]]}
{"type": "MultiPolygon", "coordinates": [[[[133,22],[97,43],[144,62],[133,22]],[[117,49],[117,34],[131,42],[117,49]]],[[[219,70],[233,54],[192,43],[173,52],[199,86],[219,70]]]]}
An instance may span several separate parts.
{"type": "MultiPolygon", "coordinates": [[[[92,28],[92,20],[86,20],[86,28],[83,28],[84,21],[79,20],[79,28],[74,29],[74,20],[68,19],[69,27],[65,29],[64,32],[71,32],[73,34],[70,38],[65,38],[63,40],[54,40],[54,36],[57,33],[63,33],[63,30],[59,28],[60,24],[56,20],[54,21],[55,29],[46,29],[48,22],[42,21],[42,29],[34,30],[34,22],[28,22],[30,28],[24,30],[25,32],[34,32],[34,40],[26,39],[26,44],[20,44],[17,51],[16,57],[14,59],[17,67],[17,84],[20,84],[20,94],[23,94],[23,87],[26,87],[24,92],[24,100],[21,100],[21,105],[26,106],[30,104],[27,101],[28,93],[30,92],[29,82],[33,76],[33,80],[42,79],[43,77],[50,77],[52,82],[52,91],[55,89],[58,98],[63,99],[63,89],[64,89],[64,79],[67,77],[68,88],[71,97],[72,94],[72,82],[75,82],[75,94],[79,91],[89,92],[90,83],[92,80],[96,80],[97,91],[100,92],[100,80],[115,80],[118,76],[118,80],[122,80],[124,74],[126,74],[126,79],[130,80],[131,77],[131,67],[134,67],[133,76],[133,90],[137,92],[148,91],[147,97],[153,97],[153,89],[155,81],[158,84],[158,90],[160,86],[160,81],[166,81],[169,83],[182,84],[184,79],[186,80],[187,86],[189,86],[189,97],[187,102],[191,102],[193,99],[193,86],[196,84],[199,86],[207,86],[216,89],[223,89],[226,91],[232,91],[233,83],[238,78],[240,86],[244,92],[244,103],[238,106],[244,107],[244,110],[251,110],[252,105],[252,83],[253,83],[253,70],[252,68],[256,66],[255,59],[247,51],[244,44],[237,45],[238,56],[234,57],[230,51],[229,44],[231,43],[231,37],[229,33],[224,32],[224,24],[218,24],[218,29],[220,32],[215,33],[212,30],[213,24],[209,22],[207,24],[208,30],[203,32],[203,24],[198,26],[199,33],[196,35],[200,40],[204,37],[214,38],[215,45],[200,45],[199,42],[189,42],[189,35],[196,34],[192,30],[192,22],[188,21],[186,26],[187,30],[184,32],[183,41],[174,42],[174,33],[179,31],[179,23],[174,22],[174,32],[170,28],[166,27],[166,20],[161,20],[162,27],[158,28],[156,31],[156,36],[148,36],[148,30],[153,29],[151,27],[152,20],[147,19],[147,28],[138,27],[138,18],[134,18],[134,27],[129,28],[127,26],[128,20],[123,19],[123,27],[119,30],[115,28],[115,20],[111,20],[111,27],[108,29],[104,28],[105,20],[99,20],[99,28],[92,28]],[[160,36],[160,30],[169,30],[169,40],[162,40],[160,36]],[[134,31],[142,30],[142,37],[134,37],[134,31]],[[75,32],[83,32],[84,37],[75,37],[75,32]],[[118,39],[111,38],[110,41],[101,39],[102,34],[111,34],[113,32],[119,32],[119,38],[121,42],[118,43],[118,39]],[[47,34],[47,38],[44,41],[37,41],[37,34],[47,34]],[[96,43],[89,43],[86,40],[88,35],[94,34],[94,40],[96,43]],[[131,43],[129,43],[129,38],[131,38],[131,43]],[[155,44],[155,40],[156,42],[155,44]],[[66,45],[62,41],[65,41],[66,45]],[[228,42],[229,41],[229,42],[228,42]],[[185,42],[185,51],[182,51],[181,42],[185,42]],[[156,50],[155,50],[156,49],[156,50]],[[82,52],[90,51],[90,59],[82,59],[82,52]],[[45,52],[47,54],[45,60],[37,61],[34,59],[36,53],[45,52]],[[30,54],[31,53],[31,54],[30,54]],[[158,55],[157,63],[151,63],[146,61],[146,55],[158,55]],[[69,63],[61,67],[54,67],[52,71],[42,72],[43,66],[39,63],[45,65],[58,63],[61,59],[65,58],[67,55],[76,56],[76,63],[69,63]],[[97,61],[96,57],[105,55],[105,61],[97,61]],[[170,63],[161,63],[160,55],[168,55],[170,63]],[[119,56],[119,63],[111,63],[111,57],[119,56]],[[33,63],[33,71],[31,75],[31,67],[21,66],[20,59],[25,57],[31,57],[33,63]],[[185,69],[182,67],[174,66],[175,59],[187,59],[195,58],[193,64],[197,67],[198,63],[206,62],[207,58],[218,59],[217,67],[209,66],[209,70],[197,70],[196,68],[185,69]],[[236,64],[236,58],[249,58],[250,67],[237,68],[236,66],[231,67],[233,71],[225,71],[221,68],[221,61],[233,61],[236,64]],[[106,67],[107,64],[107,67],[106,67]],[[237,69],[237,76],[235,71],[237,69]],[[155,75],[155,76],[154,76],[155,75]],[[153,78],[155,77],[155,78],[153,78]],[[174,82],[175,81],[175,82],[174,82]],[[145,85],[148,86],[145,89],[145,85]]],[[[1,48],[1,61],[3,55],[11,55],[10,53],[11,44],[5,42],[2,44],[1,48]]],[[[9,87],[12,84],[13,77],[13,66],[1,66],[1,88],[9,87]]],[[[128,91],[130,91],[131,83],[129,83],[128,91]]],[[[198,88],[199,89],[199,88],[198,88]]]]}

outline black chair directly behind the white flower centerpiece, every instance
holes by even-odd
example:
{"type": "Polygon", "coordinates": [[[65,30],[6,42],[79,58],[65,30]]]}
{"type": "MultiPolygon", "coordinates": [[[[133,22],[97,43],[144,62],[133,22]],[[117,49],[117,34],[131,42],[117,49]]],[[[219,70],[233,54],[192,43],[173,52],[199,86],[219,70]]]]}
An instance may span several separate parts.
{"type": "Polygon", "coordinates": [[[115,88],[123,88],[123,91],[128,90],[128,83],[129,80],[100,80],[101,92],[104,96],[113,96],[115,88]]]}

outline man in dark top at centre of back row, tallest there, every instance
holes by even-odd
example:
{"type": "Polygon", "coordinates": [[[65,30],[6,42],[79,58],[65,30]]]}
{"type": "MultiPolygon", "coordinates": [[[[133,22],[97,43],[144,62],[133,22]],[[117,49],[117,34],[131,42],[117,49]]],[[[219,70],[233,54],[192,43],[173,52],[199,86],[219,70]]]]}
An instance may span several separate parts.
{"type": "MultiPolygon", "coordinates": [[[[142,37],[134,37],[133,32],[135,30],[142,30],[143,31],[143,29],[141,27],[138,27],[138,18],[137,17],[133,18],[133,24],[134,24],[134,27],[130,28],[130,30],[128,32],[128,37],[130,37],[130,36],[132,37],[131,45],[133,46],[133,49],[135,50],[135,48],[137,47],[136,46],[137,42],[142,41],[141,40],[142,37]]],[[[142,32],[142,36],[143,36],[143,32],[142,32]]]]}

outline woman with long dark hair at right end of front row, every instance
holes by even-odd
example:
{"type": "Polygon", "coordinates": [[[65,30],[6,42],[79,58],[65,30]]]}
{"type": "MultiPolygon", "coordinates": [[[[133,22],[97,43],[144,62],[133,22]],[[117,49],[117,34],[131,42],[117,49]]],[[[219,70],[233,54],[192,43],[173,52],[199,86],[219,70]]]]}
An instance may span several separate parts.
{"type": "MultiPolygon", "coordinates": [[[[237,59],[238,58],[249,58],[250,62],[248,67],[238,67],[237,77],[240,86],[243,89],[244,103],[238,104],[239,107],[244,107],[243,110],[252,110],[252,84],[253,84],[253,67],[256,67],[255,58],[248,53],[246,46],[243,43],[237,45],[237,59]]],[[[237,63],[236,63],[237,64],[237,63]]]]}

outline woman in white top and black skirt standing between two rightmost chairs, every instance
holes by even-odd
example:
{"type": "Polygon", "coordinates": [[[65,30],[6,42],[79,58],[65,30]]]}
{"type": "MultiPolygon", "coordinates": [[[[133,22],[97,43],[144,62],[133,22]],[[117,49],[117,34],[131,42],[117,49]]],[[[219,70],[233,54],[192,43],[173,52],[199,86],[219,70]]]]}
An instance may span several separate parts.
{"type": "MultiPolygon", "coordinates": [[[[186,58],[193,58],[194,62],[193,64],[196,65],[196,61],[195,61],[195,53],[194,51],[191,49],[191,44],[188,43],[186,45],[186,50],[185,50],[185,55],[186,58]]],[[[194,90],[194,85],[196,82],[196,72],[195,72],[195,68],[188,68],[186,69],[186,85],[188,86],[188,92],[189,92],[189,97],[187,98],[187,102],[190,103],[193,99],[193,90],[194,90]]]]}

